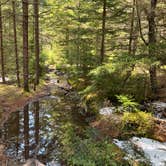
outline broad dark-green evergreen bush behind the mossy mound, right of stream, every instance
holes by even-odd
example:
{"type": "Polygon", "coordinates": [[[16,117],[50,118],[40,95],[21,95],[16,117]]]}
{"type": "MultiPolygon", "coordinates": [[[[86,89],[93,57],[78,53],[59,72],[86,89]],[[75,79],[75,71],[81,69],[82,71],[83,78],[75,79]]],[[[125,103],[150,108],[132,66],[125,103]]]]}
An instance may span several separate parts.
{"type": "Polygon", "coordinates": [[[118,68],[108,63],[99,66],[89,73],[88,86],[81,92],[86,100],[104,99],[116,100],[117,94],[132,95],[137,101],[144,100],[149,92],[147,75],[143,73],[132,73],[124,85],[127,69],[118,68]]]}

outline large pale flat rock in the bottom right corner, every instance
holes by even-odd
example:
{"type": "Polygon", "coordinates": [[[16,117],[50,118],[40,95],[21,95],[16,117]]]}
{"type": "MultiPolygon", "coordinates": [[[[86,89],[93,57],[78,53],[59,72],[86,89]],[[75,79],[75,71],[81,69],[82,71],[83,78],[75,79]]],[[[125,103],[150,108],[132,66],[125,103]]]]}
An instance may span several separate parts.
{"type": "MultiPolygon", "coordinates": [[[[133,137],[128,141],[114,140],[127,156],[141,160],[149,160],[152,166],[166,166],[166,142],[161,143],[148,138],[133,137]],[[144,157],[142,159],[142,157],[144,157]]],[[[129,158],[128,157],[128,158],[129,158]]]]}

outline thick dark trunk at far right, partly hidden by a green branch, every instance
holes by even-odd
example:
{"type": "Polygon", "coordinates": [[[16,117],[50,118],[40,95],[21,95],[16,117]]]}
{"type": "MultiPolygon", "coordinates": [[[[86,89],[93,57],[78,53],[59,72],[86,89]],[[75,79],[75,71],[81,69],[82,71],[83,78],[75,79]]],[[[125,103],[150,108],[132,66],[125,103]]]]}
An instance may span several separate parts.
{"type": "MultiPolygon", "coordinates": [[[[148,16],[149,23],[149,56],[155,56],[155,44],[156,44],[156,24],[155,24],[155,10],[157,6],[157,0],[151,0],[151,7],[148,16]]],[[[156,74],[156,65],[151,65],[150,70],[150,82],[151,90],[153,94],[157,92],[157,74],[156,74]]]]}

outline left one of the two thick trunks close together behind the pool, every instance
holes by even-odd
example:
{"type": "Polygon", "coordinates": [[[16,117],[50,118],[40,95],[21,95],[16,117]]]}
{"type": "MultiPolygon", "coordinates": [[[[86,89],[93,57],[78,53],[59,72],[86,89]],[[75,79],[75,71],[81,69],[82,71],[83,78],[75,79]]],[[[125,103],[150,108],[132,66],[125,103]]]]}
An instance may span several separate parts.
{"type": "Polygon", "coordinates": [[[23,77],[24,90],[29,91],[29,58],[28,58],[28,0],[22,0],[23,6],[23,77]]]}

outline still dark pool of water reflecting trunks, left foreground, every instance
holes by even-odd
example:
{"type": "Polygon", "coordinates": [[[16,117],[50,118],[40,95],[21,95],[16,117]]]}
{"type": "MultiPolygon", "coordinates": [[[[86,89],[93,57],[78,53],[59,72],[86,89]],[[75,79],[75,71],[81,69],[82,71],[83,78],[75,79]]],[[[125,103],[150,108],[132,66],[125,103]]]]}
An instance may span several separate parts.
{"type": "Polygon", "coordinates": [[[63,126],[88,125],[78,110],[69,96],[52,94],[11,113],[0,129],[3,153],[19,163],[35,158],[47,166],[61,166],[59,137],[63,135],[63,126]]]}

